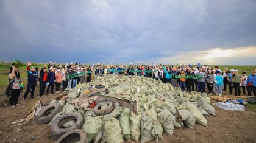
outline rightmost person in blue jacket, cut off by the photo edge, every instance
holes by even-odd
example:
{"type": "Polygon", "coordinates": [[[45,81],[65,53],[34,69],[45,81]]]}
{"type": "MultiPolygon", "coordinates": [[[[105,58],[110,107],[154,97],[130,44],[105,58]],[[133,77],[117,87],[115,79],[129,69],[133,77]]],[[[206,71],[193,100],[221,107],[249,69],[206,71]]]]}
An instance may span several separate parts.
{"type": "Polygon", "coordinates": [[[246,86],[248,87],[248,96],[251,96],[252,92],[256,96],[256,69],[248,75],[246,86]]]}

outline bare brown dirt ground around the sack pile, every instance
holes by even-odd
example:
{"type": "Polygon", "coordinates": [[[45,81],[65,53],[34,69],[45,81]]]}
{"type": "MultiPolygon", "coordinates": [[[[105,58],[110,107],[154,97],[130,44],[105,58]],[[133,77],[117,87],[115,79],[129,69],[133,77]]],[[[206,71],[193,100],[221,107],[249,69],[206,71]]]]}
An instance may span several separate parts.
{"type": "MultiPolygon", "coordinates": [[[[49,95],[41,100],[50,102],[56,96],[49,95]]],[[[50,127],[38,124],[35,119],[24,125],[11,126],[12,122],[29,115],[28,111],[38,97],[35,100],[22,99],[20,97],[19,100],[21,106],[10,108],[6,96],[0,96],[0,142],[55,142],[50,136],[50,127]]],[[[215,101],[212,100],[211,103],[213,102],[215,101]]],[[[164,133],[163,139],[159,142],[256,142],[255,108],[246,108],[246,111],[226,111],[214,107],[217,116],[207,117],[208,127],[196,124],[193,129],[175,129],[172,136],[164,133]]]]}

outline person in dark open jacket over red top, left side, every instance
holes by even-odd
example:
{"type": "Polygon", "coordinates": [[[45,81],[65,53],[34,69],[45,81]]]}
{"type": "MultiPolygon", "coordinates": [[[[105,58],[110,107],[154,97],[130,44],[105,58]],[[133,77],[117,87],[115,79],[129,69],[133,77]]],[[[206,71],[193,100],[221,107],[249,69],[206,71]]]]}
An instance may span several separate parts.
{"type": "Polygon", "coordinates": [[[39,96],[40,98],[43,97],[46,83],[48,82],[48,72],[46,71],[46,65],[43,65],[43,68],[40,70],[40,76],[38,78],[39,81],[39,96]]]}

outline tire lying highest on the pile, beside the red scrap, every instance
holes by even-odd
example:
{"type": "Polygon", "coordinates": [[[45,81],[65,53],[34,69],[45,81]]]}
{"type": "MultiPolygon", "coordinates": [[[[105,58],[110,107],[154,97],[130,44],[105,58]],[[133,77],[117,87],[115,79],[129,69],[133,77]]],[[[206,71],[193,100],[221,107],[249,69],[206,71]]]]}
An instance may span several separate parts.
{"type": "Polygon", "coordinates": [[[97,116],[109,114],[113,110],[114,110],[114,105],[113,105],[113,102],[110,102],[110,101],[99,103],[93,108],[94,114],[96,114],[97,116]],[[99,107],[101,107],[102,104],[108,104],[108,106],[103,109],[99,109],[99,107]]]}

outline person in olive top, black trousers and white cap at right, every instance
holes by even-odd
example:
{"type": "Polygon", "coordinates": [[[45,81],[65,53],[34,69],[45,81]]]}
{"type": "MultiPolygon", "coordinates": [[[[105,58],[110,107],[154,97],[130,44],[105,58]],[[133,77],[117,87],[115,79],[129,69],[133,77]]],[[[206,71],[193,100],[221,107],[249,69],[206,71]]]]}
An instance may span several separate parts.
{"type": "Polygon", "coordinates": [[[235,95],[240,96],[242,86],[242,75],[238,74],[238,70],[235,70],[235,74],[232,75],[232,86],[235,89],[235,95]]]}

